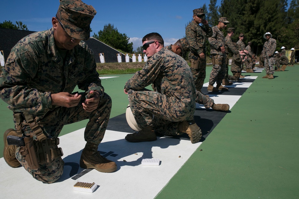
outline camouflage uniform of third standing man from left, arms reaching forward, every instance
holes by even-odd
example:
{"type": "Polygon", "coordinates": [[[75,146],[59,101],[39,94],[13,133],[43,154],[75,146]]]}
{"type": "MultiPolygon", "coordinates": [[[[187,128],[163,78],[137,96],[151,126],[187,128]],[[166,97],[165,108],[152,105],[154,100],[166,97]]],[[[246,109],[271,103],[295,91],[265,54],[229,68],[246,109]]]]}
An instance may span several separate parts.
{"type": "Polygon", "coordinates": [[[225,54],[227,57],[230,52],[234,54],[233,59],[231,61],[231,72],[233,73],[233,75],[228,75],[228,79],[237,81],[239,80],[241,74],[241,65],[239,65],[239,63],[242,64],[242,60],[240,57],[239,50],[234,45],[233,41],[231,41],[231,37],[227,35],[225,37],[225,54]]]}

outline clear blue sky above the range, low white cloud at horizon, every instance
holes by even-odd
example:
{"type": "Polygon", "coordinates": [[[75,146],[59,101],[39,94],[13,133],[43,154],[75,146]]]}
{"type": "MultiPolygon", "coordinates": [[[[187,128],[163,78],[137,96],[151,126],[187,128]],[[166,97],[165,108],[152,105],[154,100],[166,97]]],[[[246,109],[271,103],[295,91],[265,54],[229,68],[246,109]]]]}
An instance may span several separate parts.
{"type": "MultiPolygon", "coordinates": [[[[202,1],[100,1],[83,0],[92,5],[97,14],[91,22],[91,36],[103,30],[105,24],[113,24],[120,33],[125,33],[134,50],[142,45],[147,33],[161,34],[166,45],[174,44],[185,35],[185,24],[192,20],[195,8],[210,3],[202,1]]],[[[217,1],[220,4],[221,0],[217,1]]],[[[52,27],[51,18],[57,13],[59,0],[3,0],[0,22],[22,21],[28,30],[42,31],[52,27]],[[48,2],[48,4],[47,4],[48,2]],[[50,2],[50,3],[49,3],[50,2]]]]}

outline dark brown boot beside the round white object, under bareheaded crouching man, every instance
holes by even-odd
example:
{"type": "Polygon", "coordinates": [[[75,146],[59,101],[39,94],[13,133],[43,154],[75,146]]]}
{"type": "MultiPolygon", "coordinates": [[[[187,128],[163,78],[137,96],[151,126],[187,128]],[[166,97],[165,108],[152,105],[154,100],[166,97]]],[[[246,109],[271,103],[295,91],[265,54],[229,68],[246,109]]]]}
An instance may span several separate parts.
{"type": "Polygon", "coordinates": [[[141,131],[126,135],[125,139],[129,142],[150,142],[157,140],[157,136],[152,126],[147,126],[141,131]]]}

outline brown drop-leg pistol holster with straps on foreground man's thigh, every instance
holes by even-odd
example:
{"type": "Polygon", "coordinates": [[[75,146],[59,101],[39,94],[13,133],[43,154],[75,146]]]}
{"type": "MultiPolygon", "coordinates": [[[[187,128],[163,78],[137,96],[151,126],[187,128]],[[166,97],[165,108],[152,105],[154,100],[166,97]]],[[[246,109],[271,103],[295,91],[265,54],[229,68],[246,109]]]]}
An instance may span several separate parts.
{"type": "MultiPolygon", "coordinates": [[[[57,146],[59,144],[59,138],[48,138],[32,115],[27,113],[14,113],[14,117],[16,119],[16,132],[19,135],[23,134],[22,121],[24,117],[36,135],[36,140],[33,139],[32,135],[23,135],[24,142],[22,142],[22,145],[25,146],[20,146],[19,149],[19,153],[24,157],[30,169],[38,169],[40,163],[48,163],[54,158],[63,156],[62,149],[57,146]]],[[[7,142],[9,144],[13,144],[12,141],[9,141],[12,137],[15,136],[7,136],[7,142]]]]}

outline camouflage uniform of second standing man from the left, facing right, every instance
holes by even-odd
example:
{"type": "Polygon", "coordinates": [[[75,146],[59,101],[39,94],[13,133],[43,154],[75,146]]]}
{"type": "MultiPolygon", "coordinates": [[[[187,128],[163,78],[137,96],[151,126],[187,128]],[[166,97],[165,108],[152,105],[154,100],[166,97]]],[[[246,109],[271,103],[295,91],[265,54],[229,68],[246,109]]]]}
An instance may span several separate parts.
{"type": "Polygon", "coordinates": [[[212,27],[213,35],[209,37],[211,55],[218,60],[218,64],[213,65],[213,69],[210,74],[209,84],[214,85],[215,81],[217,84],[222,83],[222,79],[225,76],[225,53],[222,54],[220,47],[225,45],[225,39],[223,32],[217,27],[212,27]]]}

